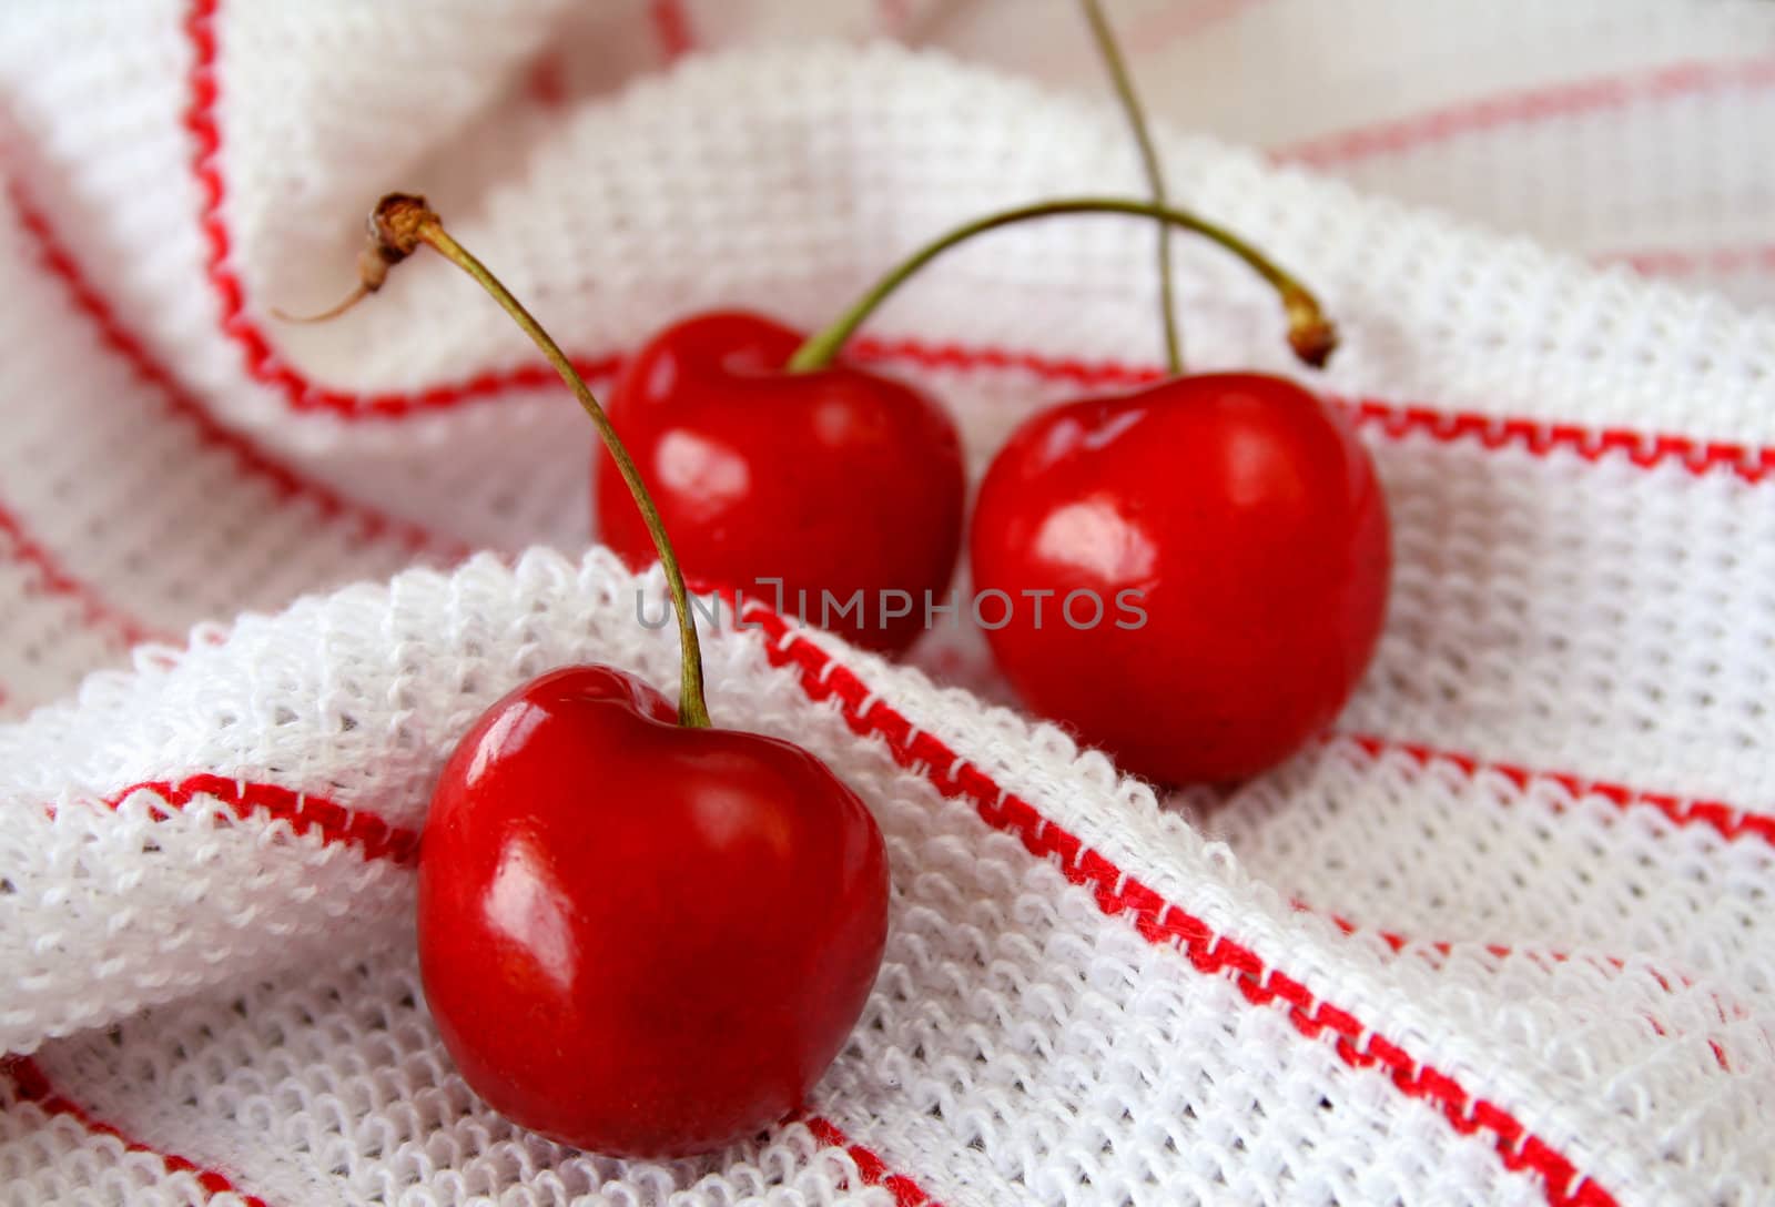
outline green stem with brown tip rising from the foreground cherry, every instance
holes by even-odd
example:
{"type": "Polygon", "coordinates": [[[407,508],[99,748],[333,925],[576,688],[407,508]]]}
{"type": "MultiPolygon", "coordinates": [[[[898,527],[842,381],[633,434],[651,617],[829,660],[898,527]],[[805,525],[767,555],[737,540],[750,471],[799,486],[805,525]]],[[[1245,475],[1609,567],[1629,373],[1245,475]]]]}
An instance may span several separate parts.
{"type": "MultiPolygon", "coordinates": [[[[659,508],[653,506],[653,495],[648,493],[646,485],[641,481],[641,472],[635,469],[634,458],[628,456],[628,449],[623,447],[621,438],[611,426],[611,417],[604,414],[604,406],[593,396],[586,380],[580,378],[573,362],[568,360],[566,353],[561,351],[543,325],[538,323],[524,305],[511,296],[511,291],[499,282],[488,268],[477,261],[469,250],[453,240],[444,229],[442,218],[426,206],[424,197],[414,197],[410,193],[389,193],[376,202],[376,209],[369,215],[369,238],[371,245],[360,261],[362,284],[359,291],[348,298],[348,304],[357,302],[359,296],[375,293],[382,280],[387,277],[387,270],[417,250],[421,243],[430,245],[444,259],[451,261],[465,273],[474,277],[476,284],[486,289],[495,302],[509,314],[517,325],[531,337],[541,353],[548,359],[548,364],[556,367],[566,387],[573,390],[573,398],[579,405],[586,408],[591,415],[591,422],[598,426],[598,437],[604,438],[604,447],[611,451],[611,458],[616,462],[618,472],[628,485],[628,493],[635,499],[635,508],[641,509],[641,520],[648,525],[648,534],[653,538],[653,548],[660,556],[660,564],[666,568],[666,586],[671,591],[673,607],[678,611],[678,637],[682,643],[683,655],[683,683],[678,698],[678,724],[685,728],[708,728],[708,701],[703,696],[703,648],[696,637],[696,618],[690,612],[690,593],[683,586],[683,572],[678,568],[678,557],[673,554],[671,538],[666,536],[666,524],[660,520],[659,508]]],[[[339,309],[339,307],[335,307],[339,309]]]]}

